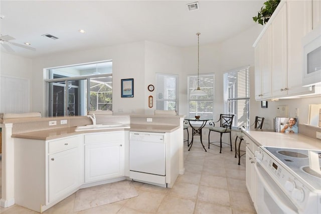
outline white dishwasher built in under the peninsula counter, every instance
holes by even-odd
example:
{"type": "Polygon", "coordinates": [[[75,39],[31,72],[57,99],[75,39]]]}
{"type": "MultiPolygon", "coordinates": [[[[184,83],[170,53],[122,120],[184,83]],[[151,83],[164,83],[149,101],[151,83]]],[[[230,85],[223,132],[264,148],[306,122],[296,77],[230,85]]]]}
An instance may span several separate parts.
{"type": "Polygon", "coordinates": [[[130,132],[129,177],[166,185],[165,133],[130,132]]]}

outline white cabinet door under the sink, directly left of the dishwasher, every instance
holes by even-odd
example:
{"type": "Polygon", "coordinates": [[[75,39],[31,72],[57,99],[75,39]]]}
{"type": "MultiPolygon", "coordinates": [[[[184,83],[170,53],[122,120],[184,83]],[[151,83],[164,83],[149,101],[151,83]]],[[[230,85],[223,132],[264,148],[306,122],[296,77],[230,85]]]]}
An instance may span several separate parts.
{"type": "Polygon", "coordinates": [[[85,182],[123,176],[124,162],[121,142],[85,145],[85,182]]]}

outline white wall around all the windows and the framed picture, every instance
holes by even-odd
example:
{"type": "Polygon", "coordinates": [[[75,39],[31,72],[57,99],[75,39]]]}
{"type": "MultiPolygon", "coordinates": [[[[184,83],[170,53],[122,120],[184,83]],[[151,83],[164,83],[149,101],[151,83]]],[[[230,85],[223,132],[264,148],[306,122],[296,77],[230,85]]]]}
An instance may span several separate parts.
{"type": "MultiPolygon", "coordinates": [[[[272,128],[276,116],[276,106],[288,105],[289,116],[295,116],[299,109],[299,123],[307,123],[308,104],[320,104],[320,97],[286,99],[268,102],[268,108],[261,108],[261,102],[254,99],[254,41],[261,31],[260,25],[229,38],[218,44],[200,46],[200,74],[215,74],[214,119],[223,112],[223,73],[238,67],[250,65],[251,102],[250,122],[256,115],[265,117],[264,128],[272,128]]],[[[11,54],[1,55],[1,75],[28,78],[31,81],[31,111],[45,115],[45,78],[43,69],[74,65],[95,61],[113,61],[113,111],[115,113],[152,113],[148,108],[149,84],[155,85],[155,73],[179,75],[180,114],[187,115],[187,76],[197,74],[197,36],[196,45],[188,48],[170,47],[153,42],[136,42],[110,47],[102,47],[71,53],[55,54],[36,59],[26,59],[11,54]],[[134,78],[134,97],[120,97],[120,79],[134,78]]],[[[202,34],[200,36],[202,41],[202,34]]],[[[1,109],[0,109],[1,112],[1,109]]]]}

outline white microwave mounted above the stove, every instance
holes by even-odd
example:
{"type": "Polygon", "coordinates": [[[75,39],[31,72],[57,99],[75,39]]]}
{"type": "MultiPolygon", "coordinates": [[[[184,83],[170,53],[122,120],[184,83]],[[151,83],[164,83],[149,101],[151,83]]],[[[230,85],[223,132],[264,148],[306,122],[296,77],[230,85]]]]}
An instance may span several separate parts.
{"type": "Polygon", "coordinates": [[[321,86],[321,26],[303,38],[302,86],[321,86]]]}

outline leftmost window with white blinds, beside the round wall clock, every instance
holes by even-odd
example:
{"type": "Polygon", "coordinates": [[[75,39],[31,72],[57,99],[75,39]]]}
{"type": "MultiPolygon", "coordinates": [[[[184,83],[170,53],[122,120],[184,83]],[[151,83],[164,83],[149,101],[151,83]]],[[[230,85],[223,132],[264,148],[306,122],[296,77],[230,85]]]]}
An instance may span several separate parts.
{"type": "Polygon", "coordinates": [[[178,75],[156,73],[156,109],[179,113],[178,75]]]}

